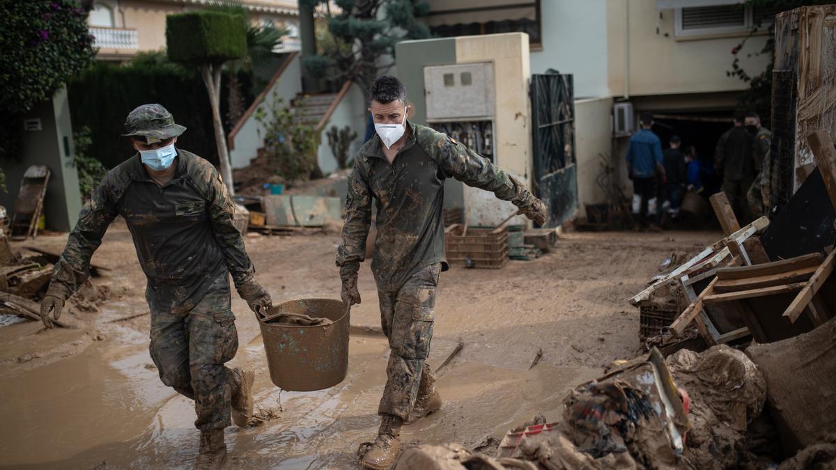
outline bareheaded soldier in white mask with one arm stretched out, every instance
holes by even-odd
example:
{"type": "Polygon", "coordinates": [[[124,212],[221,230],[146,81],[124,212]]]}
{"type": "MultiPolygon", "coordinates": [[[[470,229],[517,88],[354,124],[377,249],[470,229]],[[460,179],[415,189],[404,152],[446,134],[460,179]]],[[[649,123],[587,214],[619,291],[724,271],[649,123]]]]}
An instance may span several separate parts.
{"type": "Polygon", "coordinates": [[[444,181],[455,177],[493,192],[542,224],[546,207],[520,181],[486,158],[423,125],[406,120],[409,106],[400,80],[381,76],[371,89],[376,134],[354,158],[346,198],[343,243],[337,250],[342,298],[359,304],[359,263],[377,207],[372,259],[380,297],[380,321],[389,339],[387,381],[378,413],[380,430],[364,467],[388,468],[400,451],[400,427],[441,407],[426,358],[430,354],[433,308],[444,255],[444,181]]]}

